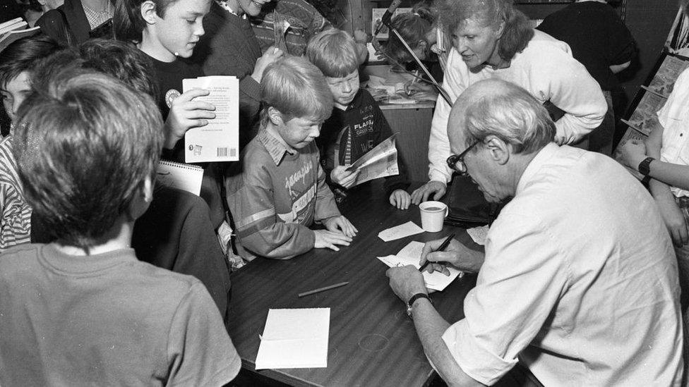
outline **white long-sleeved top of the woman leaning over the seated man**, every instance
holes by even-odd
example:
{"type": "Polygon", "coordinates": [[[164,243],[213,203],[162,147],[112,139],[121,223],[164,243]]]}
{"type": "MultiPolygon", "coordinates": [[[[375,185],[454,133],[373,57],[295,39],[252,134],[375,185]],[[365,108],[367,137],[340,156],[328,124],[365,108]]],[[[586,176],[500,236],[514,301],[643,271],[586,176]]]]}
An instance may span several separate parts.
{"type": "MultiPolygon", "coordinates": [[[[472,73],[456,49],[450,49],[443,87],[453,102],[464,90],[480,80],[498,78],[524,87],[541,103],[550,101],[565,111],[556,123],[556,137],[570,144],[597,128],[608,111],[598,82],[572,57],[565,42],[545,32],[535,31],[524,51],[517,53],[508,68],[485,66],[472,73]]],[[[429,178],[450,181],[452,171],[445,160],[450,156],[448,117],[451,106],[442,96],[436,102],[429,138],[429,178]]]]}

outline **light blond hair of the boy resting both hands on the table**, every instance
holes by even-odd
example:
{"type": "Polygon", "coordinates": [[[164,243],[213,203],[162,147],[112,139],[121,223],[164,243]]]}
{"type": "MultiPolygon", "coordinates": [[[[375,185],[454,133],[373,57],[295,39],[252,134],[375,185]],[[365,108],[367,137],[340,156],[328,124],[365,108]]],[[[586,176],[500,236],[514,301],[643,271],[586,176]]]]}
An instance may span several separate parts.
{"type": "Polygon", "coordinates": [[[262,123],[270,106],[287,116],[285,121],[294,117],[325,121],[332,113],[332,95],[323,73],[299,56],[286,56],[266,68],[260,82],[260,100],[262,123]]]}

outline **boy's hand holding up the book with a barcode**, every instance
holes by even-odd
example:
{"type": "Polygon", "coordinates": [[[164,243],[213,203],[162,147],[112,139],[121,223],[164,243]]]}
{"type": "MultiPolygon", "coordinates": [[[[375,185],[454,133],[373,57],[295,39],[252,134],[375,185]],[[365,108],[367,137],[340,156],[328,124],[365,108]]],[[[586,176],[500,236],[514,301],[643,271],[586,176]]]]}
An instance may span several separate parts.
{"type": "Polygon", "coordinates": [[[215,106],[203,101],[194,101],[196,97],[205,97],[210,91],[193,89],[182,93],[172,101],[170,112],[164,124],[165,142],[163,147],[174,148],[191,128],[208,125],[208,120],[215,118],[215,106]]]}

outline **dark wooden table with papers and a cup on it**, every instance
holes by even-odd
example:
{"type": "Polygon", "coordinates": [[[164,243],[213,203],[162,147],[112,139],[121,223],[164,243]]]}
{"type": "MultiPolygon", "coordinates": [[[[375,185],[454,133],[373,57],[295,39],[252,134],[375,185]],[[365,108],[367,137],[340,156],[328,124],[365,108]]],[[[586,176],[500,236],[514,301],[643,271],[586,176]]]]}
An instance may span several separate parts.
{"type": "MultiPolygon", "coordinates": [[[[461,228],[383,242],[378,233],[406,221],[421,225],[419,208],[393,208],[382,184],[364,185],[340,204],[359,235],[340,252],[314,249],[287,261],[257,258],[232,275],[230,336],[242,367],[255,371],[268,309],[330,307],[328,367],[266,369],[258,374],[294,386],[425,386],[433,376],[405,304],[388,286],[388,269],[376,257],[396,254],[412,240],[455,238],[480,248],[461,228]],[[349,285],[299,298],[297,293],[349,281],[349,285]]],[[[475,276],[454,281],[431,296],[448,321],[464,317],[463,300],[475,276]]]]}

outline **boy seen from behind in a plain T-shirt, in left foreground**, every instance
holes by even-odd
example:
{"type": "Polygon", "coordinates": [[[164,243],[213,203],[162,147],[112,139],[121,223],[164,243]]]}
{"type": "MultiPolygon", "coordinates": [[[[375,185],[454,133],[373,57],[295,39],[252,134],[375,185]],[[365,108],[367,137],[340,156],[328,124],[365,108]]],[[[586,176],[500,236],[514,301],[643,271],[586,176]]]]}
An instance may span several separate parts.
{"type": "Polygon", "coordinates": [[[20,107],[25,197],[56,241],[0,255],[3,386],[222,386],[241,361],[192,276],[140,262],[162,119],[148,96],[86,70],[20,107]]]}

